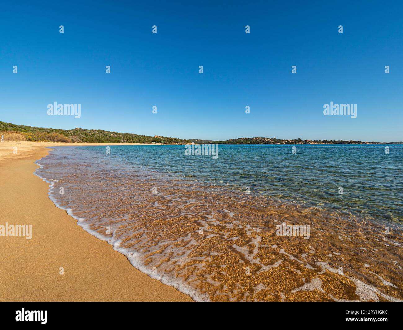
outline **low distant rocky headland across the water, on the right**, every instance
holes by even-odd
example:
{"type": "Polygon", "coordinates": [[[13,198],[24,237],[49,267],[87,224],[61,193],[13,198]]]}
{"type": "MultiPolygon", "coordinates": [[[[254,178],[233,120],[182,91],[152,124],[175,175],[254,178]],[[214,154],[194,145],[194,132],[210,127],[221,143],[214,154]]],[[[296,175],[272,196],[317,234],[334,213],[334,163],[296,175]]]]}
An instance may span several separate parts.
{"type": "Polygon", "coordinates": [[[343,140],[302,140],[302,139],[276,139],[275,137],[240,137],[239,139],[229,139],[225,141],[190,139],[197,144],[218,143],[218,144],[397,144],[403,142],[363,142],[363,141],[343,141],[343,140]]]}

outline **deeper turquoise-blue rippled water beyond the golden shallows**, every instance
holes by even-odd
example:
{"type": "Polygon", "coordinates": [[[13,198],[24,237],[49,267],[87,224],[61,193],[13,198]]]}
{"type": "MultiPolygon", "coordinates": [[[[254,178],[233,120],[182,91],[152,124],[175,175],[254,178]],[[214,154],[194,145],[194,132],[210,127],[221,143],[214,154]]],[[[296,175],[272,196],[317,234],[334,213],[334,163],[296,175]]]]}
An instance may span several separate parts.
{"type": "Polygon", "coordinates": [[[111,146],[109,155],[103,146],[78,149],[190,183],[402,222],[403,145],[387,146],[389,154],[385,145],[219,145],[216,159],[185,156],[183,145],[111,146]]]}

